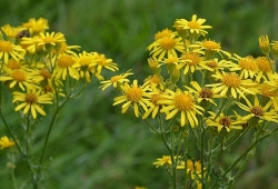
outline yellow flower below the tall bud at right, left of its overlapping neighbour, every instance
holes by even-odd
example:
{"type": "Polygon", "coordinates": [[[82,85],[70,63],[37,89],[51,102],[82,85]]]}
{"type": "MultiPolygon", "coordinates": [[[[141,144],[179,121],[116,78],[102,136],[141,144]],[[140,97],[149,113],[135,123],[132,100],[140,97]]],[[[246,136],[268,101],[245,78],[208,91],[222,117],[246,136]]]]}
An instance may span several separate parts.
{"type": "Polygon", "coordinates": [[[247,57],[239,57],[238,54],[234,54],[235,60],[238,62],[237,64],[234,63],[231,64],[232,67],[230,68],[230,71],[240,71],[240,78],[247,79],[250,78],[252,79],[256,73],[258,72],[258,66],[256,63],[256,59],[252,58],[251,56],[247,57]]]}

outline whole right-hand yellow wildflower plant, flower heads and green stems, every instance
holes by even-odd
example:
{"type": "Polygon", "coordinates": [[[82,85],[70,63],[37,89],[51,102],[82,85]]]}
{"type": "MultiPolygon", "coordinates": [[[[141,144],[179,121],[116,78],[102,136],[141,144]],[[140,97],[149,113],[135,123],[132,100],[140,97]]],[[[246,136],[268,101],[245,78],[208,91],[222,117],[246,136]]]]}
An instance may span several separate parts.
{"type": "Polygon", "coordinates": [[[230,188],[257,145],[278,130],[277,41],[259,37],[262,56],[240,57],[207,38],[212,27],[205,22],[193,14],[157,32],[141,83],[128,79],[131,71],[101,81],[102,90],[120,92],[113,106],[133,111],[161,139],[167,155],[153,165],[166,168],[172,189],[230,188]],[[234,162],[224,163],[250,136],[234,162]]]}

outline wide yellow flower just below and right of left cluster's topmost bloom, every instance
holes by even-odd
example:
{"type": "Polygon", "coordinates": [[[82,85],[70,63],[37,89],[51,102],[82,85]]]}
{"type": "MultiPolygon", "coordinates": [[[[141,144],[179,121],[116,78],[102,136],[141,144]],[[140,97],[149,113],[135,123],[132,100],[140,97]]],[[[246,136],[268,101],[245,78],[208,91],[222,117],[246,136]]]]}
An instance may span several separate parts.
{"type": "MultiPolygon", "coordinates": [[[[61,32],[41,32],[39,33],[38,37],[38,46],[44,46],[46,48],[48,47],[53,47],[53,46],[58,46],[61,42],[64,42],[64,36],[61,32]]],[[[59,49],[59,48],[58,48],[59,49]]]]}

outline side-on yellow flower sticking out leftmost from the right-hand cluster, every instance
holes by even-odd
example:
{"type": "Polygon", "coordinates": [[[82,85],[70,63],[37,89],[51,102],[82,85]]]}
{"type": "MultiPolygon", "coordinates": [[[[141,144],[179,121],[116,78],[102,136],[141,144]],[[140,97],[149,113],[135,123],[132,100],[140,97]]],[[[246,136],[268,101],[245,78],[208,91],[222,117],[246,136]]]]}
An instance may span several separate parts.
{"type": "Polygon", "coordinates": [[[106,90],[109,86],[112,86],[113,88],[117,89],[121,87],[123,82],[129,82],[129,79],[127,77],[131,74],[133,74],[131,70],[128,70],[127,72],[121,73],[121,74],[116,74],[110,80],[100,81],[100,83],[102,84],[100,86],[100,88],[102,90],[106,90]]]}

